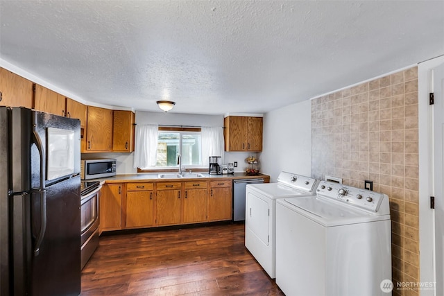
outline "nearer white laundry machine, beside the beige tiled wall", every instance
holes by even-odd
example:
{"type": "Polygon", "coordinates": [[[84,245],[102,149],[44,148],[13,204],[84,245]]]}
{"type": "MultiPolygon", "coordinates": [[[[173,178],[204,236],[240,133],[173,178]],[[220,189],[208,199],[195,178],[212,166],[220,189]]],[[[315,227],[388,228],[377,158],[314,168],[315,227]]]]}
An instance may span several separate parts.
{"type": "Polygon", "coordinates": [[[321,181],[315,198],[276,205],[276,284],[287,295],[388,295],[388,196],[321,181]]]}

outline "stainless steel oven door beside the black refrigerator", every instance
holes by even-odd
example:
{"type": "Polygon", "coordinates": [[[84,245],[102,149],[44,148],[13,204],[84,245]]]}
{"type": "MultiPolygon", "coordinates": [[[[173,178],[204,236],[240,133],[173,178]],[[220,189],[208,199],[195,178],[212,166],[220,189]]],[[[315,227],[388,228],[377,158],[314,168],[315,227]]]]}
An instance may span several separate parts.
{"type": "Polygon", "coordinates": [[[83,245],[99,229],[99,195],[100,189],[88,193],[80,199],[80,245],[83,245]]]}

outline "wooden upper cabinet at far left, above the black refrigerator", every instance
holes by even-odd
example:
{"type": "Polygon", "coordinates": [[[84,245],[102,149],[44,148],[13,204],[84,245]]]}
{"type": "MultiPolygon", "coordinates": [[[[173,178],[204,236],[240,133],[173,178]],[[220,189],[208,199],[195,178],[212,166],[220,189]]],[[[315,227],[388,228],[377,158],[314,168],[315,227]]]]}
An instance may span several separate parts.
{"type": "Polygon", "coordinates": [[[0,68],[0,106],[33,107],[33,82],[0,68]]]}

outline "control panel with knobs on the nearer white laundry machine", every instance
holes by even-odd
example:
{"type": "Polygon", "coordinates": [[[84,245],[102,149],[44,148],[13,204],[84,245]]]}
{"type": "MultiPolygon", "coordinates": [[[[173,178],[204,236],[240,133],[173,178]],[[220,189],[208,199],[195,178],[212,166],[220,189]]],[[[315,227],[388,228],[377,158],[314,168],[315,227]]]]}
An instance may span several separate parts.
{"type": "Polygon", "coordinates": [[[316,193],[318,196],[340,200],[351,206],[372,211],[380,215],[386,214],[386,209],[379,211],[379,207],[384,198],[388,200],[388,196],[384,193],[377,193],[375,191],[327,181],[321,181],[319,183],[316,193]]]}

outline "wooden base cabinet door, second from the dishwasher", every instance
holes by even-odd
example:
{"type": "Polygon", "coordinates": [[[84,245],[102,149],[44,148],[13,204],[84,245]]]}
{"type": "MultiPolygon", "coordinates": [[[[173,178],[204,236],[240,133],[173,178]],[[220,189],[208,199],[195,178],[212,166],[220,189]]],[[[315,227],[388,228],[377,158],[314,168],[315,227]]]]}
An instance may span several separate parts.
{"type": "Polygon", "coordinates": [[[207,220],[207,189],[185,189],[183,223],[207,220]]]}

